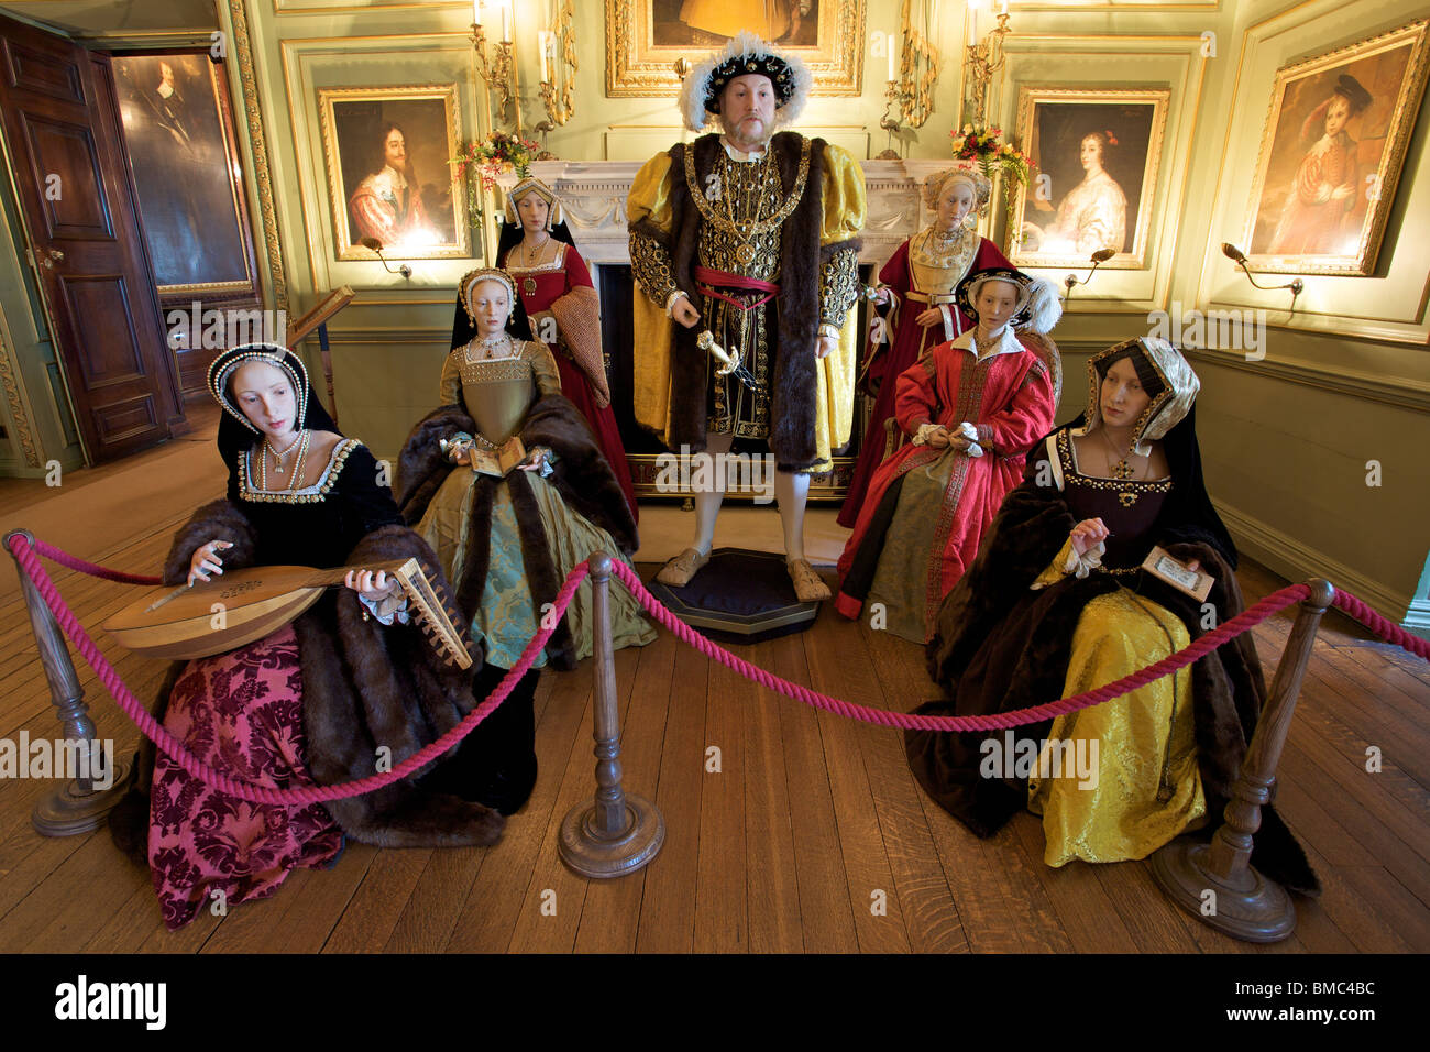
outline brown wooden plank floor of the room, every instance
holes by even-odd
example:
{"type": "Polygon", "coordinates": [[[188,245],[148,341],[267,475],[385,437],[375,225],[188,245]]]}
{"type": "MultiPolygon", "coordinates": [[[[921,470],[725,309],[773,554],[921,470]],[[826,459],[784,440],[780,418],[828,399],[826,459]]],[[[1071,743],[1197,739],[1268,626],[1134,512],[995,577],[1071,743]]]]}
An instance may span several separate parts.
{"type": "MultiPolygon", "coordinates": [[[[19,502],[0,492],[0,520],[14,520],[21,504],[30,517],[46,507],[29,491],[19,502]]],[[[152,571],[180,521],[159,517],[123,537],[96,522],[103,540],[82,554],[152,571]]],[[[54,577],[87,625],[126,601],[122,585],[54,577]]],[[[1284,584],[1253,564],[1240,578],[1248,603],[1284,584]]],[[[1256,630],[1268,680],[1288,625],[1281,615],[1256,630]]],[[[147,698],[164,664],[96,637],[147,698]]],[[[919,647],[838,618],[828,604],[808,633],[741,653],[871,706],[902,711],[937,693],[919,647]]],[[[562,817],[593,789],[586,663],[542,677],[541,777],[498,846],[353,843],[332,870],[297,872],[272,899],[203,913],[177,933],[159,920],[147,872],[107,832],[34,833],[30,809],[54,783],[0,781],[0,952],[1430,950],[1430,668],[1340,615],[1316,643],[1278,790],[1326,893],[1298,900],[1294,937],[1268,948],[1181,913],[1145,863],[1048,869],[1031,814],[977,839],[924,797],[897,731],[779,697],[668,633],[621,651],[616,674],[625,784],[656,802],[666,823],[664,850],[641,873],[592,882],[556,856],[562,817]],[[1366,770],[1370,747],[1380,751],[1377,773],[1366,770]]],[[[136,731],[89,668],[80,678],[100,736],[127,754],[136,731]]],[[[13,593],[0,603],[0,737],[53,737],[13,593]]]]}

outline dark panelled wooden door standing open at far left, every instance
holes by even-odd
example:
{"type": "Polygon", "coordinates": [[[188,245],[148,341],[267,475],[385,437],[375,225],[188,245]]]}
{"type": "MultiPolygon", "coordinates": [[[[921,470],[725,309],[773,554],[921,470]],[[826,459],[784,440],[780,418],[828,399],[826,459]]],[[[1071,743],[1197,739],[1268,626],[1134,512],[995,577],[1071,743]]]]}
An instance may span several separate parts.
{"type": "Polygon", "coordinates": [[[0,122],[86,457],[184,429],[109,56],[0,17],[0,122]]]}

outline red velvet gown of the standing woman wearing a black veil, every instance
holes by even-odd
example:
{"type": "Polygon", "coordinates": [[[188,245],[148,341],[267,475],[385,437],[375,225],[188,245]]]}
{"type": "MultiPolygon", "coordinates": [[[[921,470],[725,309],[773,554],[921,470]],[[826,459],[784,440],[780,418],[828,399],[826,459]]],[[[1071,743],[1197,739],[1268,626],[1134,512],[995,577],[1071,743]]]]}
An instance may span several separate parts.
{"type": "MultiPolygon", "coordinates": [[[[531,319],[532,338],[551,346],[561,374],[561,394],[575,402],[581,415],[591,424],[601,452],[611,462],[611,469],[625,491],[631,514],[639,518],[631,465],[626,464],[616,415],[609,401],[605,405],[599,404],[606,395],[602,392],[602,398],[598,398],[591,379],[591,372],[598,372],[603,379],[605,369],[601,364],[601,315],[586,260],[575,246],[562,242],[558,242],[556,259],[551,263],[523,268],[518,265],[519,258],[518,245],[506,253],[502,269],[516,282],[516,293],[522,298],[522,306],[531,319]],[[548,338],[552,333],[546,332],[543,325],[543,321],[551,318],[556,322],[555,339],[548,338]]],[[[605,388],[603,382],[601,388],[605,388]]]]}

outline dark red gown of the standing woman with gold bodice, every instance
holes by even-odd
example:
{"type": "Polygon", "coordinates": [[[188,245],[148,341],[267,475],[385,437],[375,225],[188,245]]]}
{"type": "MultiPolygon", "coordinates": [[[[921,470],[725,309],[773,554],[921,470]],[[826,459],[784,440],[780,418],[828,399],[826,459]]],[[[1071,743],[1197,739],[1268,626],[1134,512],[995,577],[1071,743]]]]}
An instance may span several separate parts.
{"type": "MultiPolygon", "coordinates": [[[[892,331],[892,344],[887,342],[888,335],[885,335],[884,344],[875,342],[872,338],[869,341],[869,382],[878,385],[878,396],[874,399],[874,414],[869,417],[869,427],[864,435],[859,461],[854,465],[854,481],[849,482],[849,492],[839,508],[838,521],[842,527],[852,527],[858,520],[867,500],[869,479],[879,467],[879,461],[884,459],[884,421],[894,415],[894,381],[925,351],[950,339],[942,323],[924,328],[914,321],[928,309],[928,295],[952,291],[958,282],[975,271],[985,271],[990,266],[1011,266],[997,245],[987,238],[978,238],[978,246],[970,265],[945,271],[937,282],[938,288],[924,288],[908,258],[909,243],[921,236],[927,236],[927,232],[921,232],[899,245],[889,262],[879,271],[879,281],[897,295],[885,319],[888,329],[892,331]],[[879,354],[881,349],[882,354],[879,354]]],[[[954,336],[972,328],[972,319],[957,305],[950,303],[948,313],[952,316],[954,336]]]]}

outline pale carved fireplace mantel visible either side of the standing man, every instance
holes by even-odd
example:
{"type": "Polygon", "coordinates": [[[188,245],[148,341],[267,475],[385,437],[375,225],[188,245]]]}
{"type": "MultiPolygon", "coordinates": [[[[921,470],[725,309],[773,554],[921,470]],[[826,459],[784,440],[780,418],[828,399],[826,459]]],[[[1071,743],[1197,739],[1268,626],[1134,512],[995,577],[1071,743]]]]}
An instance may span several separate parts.
{"type": "MultiPolygon", "coordinates": [[[[930,223],[919,187],[948,160],[862,160],[868,218],[859,262],[882,265],[905,238],[930,223]]],[[[626,195],[641,163],[635,160],[541,160],[532,175],[549,185],[566,210],[566,225],[591,263],[629,263],[626,195]]]]}

